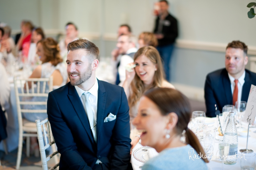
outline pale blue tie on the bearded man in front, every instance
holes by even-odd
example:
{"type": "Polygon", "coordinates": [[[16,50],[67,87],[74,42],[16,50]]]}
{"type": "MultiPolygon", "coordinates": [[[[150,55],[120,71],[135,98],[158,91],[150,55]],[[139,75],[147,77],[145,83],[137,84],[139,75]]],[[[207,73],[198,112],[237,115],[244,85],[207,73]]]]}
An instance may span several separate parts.
{"type": "Polygon", "coordinates": [[[91,127],[91,130],[92,130],[92,135],[93,135],[94,141],[97,142],[96,122],[94,120],[94,115],[93,115],[93,112],[92,112],[92,105],[89,101],[89,96],[90,96],[89,92],[84,92],[83,95],[82,95],[82,99],[83,99],[83,102],[84,102],[84,105],[85,105],[85,112],[87,114],[87,117],[88,117],[88,120],[89,120],[89,123],[90,123],[90,127],[91,127]]]}

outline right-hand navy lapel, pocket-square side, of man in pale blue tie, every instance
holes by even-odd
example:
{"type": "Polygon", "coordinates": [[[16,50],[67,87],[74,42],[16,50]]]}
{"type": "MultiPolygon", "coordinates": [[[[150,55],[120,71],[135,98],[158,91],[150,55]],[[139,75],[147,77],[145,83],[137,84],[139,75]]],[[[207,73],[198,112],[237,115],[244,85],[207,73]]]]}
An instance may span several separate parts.
{"type": "Polygon", "coordinates": [[[105,87],[104,87],[103,83],[100,80],[98,80],[98,106],[97,106],[97,124],[96,124],[97,144],[99,144],[98,139],[99,139],[101,127],[103,124],[103,118],[104,118],[103,116],[105,113],[106,97],[107,97],[107,92],[105,90],[105,87]]]}

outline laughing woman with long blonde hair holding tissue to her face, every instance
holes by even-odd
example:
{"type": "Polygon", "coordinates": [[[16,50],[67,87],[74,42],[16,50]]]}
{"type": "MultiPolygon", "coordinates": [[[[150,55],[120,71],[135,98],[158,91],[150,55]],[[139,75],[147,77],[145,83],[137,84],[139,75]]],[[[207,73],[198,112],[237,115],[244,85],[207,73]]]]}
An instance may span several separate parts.
{"type": "MultiPolygon", "coordinates": [[[[126,93],[130,107],[130,124],[131,124],[131,139],[133,140],[137,132],[132,125],[134,117],[136,117],[139,99],[142,94],[148,89],[155,87],[174,88],[172,84],[164,79],[164,70],[161,62],[161,57],[155,47],[147,46],[140,48],[134,56],[135,69],[131,72],[126,70],[126,79],[123,83],[123,88],[126,93]]],[[[133,140],[132,147],[139,141],[139,137],[133,140]]]]}

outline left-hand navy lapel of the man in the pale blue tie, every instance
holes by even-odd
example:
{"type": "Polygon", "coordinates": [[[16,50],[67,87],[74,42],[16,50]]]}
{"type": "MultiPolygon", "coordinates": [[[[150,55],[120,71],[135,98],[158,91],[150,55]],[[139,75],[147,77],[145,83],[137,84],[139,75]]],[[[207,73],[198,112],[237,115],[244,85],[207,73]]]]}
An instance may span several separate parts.
{"type": "Polygon", "coordinates": [[[68,96],[70,102],[72,103],[77,116],[79,117],[81,123],[83,124],[83,127],[86,130],[91,142],[94,143],[94,139],[92,137],[92,132],[91,132],[91,129],[89,126],[89,120],[86,116],[85,110],[83,108],[83,104],[81,103],[81,100],[76,92],[75,87],[72,86],[71,84],[69,84],[69,91],[68,91],[67,96],[68,96]]]}

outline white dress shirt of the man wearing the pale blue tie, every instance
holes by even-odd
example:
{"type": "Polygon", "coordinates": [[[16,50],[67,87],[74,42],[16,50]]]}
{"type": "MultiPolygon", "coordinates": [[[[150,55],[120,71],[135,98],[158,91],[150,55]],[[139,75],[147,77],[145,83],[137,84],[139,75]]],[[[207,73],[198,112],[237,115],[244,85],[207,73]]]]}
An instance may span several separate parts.
{"type": "MultiPolygon", "coordinates": [[[[96,79],[94,85],[92,86],[92,88],[90,88],[90,90],[88,91],[84,91],[82,89],[80,89],[79,87],[75,86],[76,88],[76,92],[83,104],[83,108],[84,110],[85,109],[85,105],[84,105],[84,102],[83,102],[83,99],[82,99],[82,95],[84,92],[89,92],[90,93],[90,96],[89,96],[89,101],[91,103],[91,106],[92,106],[92,113],[93,113],[93,117],[94,117],[94,120],[95,120],[95,123],[97,124],[97,106],[98,106],[98,80],[96,79]]],[[[96,132],[95,132],[95,135],[96,132]]],[[[96,163],[95,164],[99,164],[99,163],[102,163],[99,159],[97,159],[96,163]]]]}

